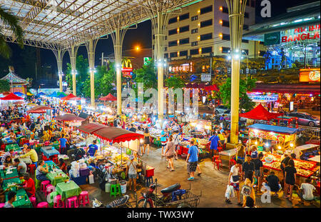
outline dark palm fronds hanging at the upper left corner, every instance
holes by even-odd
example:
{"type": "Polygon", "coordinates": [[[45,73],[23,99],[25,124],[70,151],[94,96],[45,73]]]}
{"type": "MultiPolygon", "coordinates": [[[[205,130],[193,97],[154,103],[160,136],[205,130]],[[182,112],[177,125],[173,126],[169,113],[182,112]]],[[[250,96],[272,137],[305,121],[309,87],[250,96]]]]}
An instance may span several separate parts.
{"type": "Polygon", "coordinates": [[[24,47],[24,31],[19,24],[19,18],[11,14],[8,9],[4,9],[0,6],[0,56],[5,59],[9,59],[11,56],[11,49],[6,43],[6,36],[4,36],[4,26],[9,26],[9,29],[13,32],[16,41],[24,47]]]}

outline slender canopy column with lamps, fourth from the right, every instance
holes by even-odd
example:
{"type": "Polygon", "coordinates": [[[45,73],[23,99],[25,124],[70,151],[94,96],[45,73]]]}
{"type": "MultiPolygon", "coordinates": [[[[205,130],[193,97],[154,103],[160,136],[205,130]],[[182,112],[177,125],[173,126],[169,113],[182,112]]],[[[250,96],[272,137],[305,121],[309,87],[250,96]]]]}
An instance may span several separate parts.
{"type": "Polygon", "coordinates": [[[88,53],[89,73],[91,75],[91,106],[95,104],[95,49],[98,39],[90,39],[86,44],[88,53]]]}

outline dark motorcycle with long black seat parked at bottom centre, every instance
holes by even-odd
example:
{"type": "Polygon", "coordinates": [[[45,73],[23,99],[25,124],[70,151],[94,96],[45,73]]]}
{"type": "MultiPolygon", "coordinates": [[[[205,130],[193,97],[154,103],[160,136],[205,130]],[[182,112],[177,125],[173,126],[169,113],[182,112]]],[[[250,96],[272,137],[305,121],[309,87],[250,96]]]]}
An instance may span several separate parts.
{"type": "Polygon", "coordinates": [[[165,206],[170,201],[172,201],[172,193],[174,191],[178,191],[180,189],[180,183],[175,183],[172,186],[168,186],[167,188],[163,188],[161,190],[161,196],[154,193],[156,190],[156,183],[151,183],[149,186],[147,193],[141,193],[142,196],[138,199],[137,205],[138,208],[153,208],[154,206],[165,206]],[[155,204],[155,205],[154,205],[155,204]]]}

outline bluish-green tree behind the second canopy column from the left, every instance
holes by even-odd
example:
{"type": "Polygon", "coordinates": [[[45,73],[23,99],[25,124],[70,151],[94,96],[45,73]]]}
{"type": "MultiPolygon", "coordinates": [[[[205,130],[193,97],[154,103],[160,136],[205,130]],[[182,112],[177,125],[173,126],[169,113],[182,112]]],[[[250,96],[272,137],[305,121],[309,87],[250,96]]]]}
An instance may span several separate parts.
{"type": "MultiPolygon", "coordinates": [[[[76,59],[76,93],[79,96],[85,96],[84,94],[84,83],[89,76],[89,65],[88,59],[83,59],[83,56],[77,56],[76,59]]],[[[67,64],[66,70],[66,81],[68,86],[72,89],[73,88],[73,76],[71,75],[71,64],[67,64]]],[[[90,84],[89,84],[90,86],[90,84]]],[[[90,87],[89,87],[90,89],[90,87]]],[[[90,92],[89,92],[90,96],[90,92]]]]}

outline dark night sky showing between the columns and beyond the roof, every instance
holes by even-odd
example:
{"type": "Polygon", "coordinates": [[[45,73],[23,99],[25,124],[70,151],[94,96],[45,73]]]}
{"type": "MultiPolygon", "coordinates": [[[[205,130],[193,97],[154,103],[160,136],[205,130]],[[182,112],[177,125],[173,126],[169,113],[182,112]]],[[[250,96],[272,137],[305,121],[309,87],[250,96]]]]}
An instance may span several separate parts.
{"type": "MultiPolygon", "coordinates": [[[[315,0],[270,0],[272,5],[272,17],[278,14],[283,14],[286,12],[286,9],[291,6],[297,6],[303,3],[309,3],[315,0]]],[[[264,19],[260,16],[260,0],[256,0],[256,22],[263,22],[264,19]]],[[[145,21],[141,24],[138,24],[137,29],[128,30],[123,41],[123,50],[133,49],[136,45],[141,46],[141,48],[151,48],[151,21],[145,21]]],[[[16,44],[10,44],[13,51],[13,61],[19,61],[21,59],[21,49],[16,44]]],[[[25,48],[28,46],[25,46],[25,48]]],[[[111,54],[113,53],[113,42],[111,37],[108,39],[101,39],[98,41],[96,47],[96,65],[99,65],[99,58],[101,53],[111,54]]],[[[87,51],[85,46],[81,46],[78,49],[78,55],[82,54],[84,57],[87,57],[87,51]]],[[[66,63],[69,62],[68,53],[63,57],[63,69],[66,69],[66,63]]],[[[41,65],[51,64],[53,71],[57,72],[56,68],[56,59],[54,54],[50,50],[41,49],[41,65]]]]}

